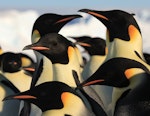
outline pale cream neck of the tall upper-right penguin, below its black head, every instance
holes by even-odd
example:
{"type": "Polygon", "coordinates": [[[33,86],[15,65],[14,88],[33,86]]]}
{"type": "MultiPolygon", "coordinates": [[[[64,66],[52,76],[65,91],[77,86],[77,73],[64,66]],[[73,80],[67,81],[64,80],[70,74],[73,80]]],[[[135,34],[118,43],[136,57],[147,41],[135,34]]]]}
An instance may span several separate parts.
{"type": "Polygon", "coordinates": [[[107,58],[113,57],[135,57],[135,51],[139,54],[139,56],[143,57],[143,46],[142,39],[137,39],[137,41],[123,41],[121,39],[115,38],[113,42],[107,44],[108,47],[108,55],[107,58]]]}

